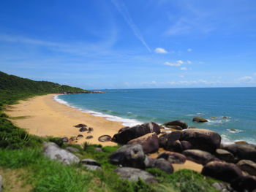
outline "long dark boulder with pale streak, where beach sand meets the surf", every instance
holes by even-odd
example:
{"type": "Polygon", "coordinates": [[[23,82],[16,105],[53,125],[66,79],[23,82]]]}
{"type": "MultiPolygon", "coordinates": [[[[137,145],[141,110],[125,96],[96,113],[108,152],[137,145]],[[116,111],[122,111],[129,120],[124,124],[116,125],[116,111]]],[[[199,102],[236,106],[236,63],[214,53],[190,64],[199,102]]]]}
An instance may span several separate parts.
{"type": "Polygon", "coordinates": [[[118,144],[127,144],[132,139],[141,137],[145,134],[156,133],[160,134],[161,126],[157,123],[144,123],[142,125],[133,126],[131,128],[127,128],[124,131],[119,132],[113,136],[113,141],[118,144]]]}

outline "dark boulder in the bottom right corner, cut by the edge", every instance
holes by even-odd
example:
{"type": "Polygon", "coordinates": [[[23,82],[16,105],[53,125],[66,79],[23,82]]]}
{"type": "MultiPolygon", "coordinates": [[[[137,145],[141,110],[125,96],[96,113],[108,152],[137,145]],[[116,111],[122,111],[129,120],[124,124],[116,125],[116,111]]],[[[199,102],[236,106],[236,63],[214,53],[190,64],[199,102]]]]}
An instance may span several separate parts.
{"type": "Polygon", "coordinates": [[[231,187],[236,191],[242,192],[255,192],[256,179],[252,176],[241,176],[231,182],[231,187]]]}

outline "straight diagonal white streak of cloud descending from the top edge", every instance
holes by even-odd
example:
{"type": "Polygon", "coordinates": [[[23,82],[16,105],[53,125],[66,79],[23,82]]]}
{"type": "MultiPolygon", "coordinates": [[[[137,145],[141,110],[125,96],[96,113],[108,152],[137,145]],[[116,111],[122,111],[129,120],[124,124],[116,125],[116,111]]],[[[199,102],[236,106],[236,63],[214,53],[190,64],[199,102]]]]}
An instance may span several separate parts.
{"type": "Polygon", "coordinates": [[[125,4],[121,0],[119,0],[119,1],[111,0],[111,2],[115,5],[116,9],[118,9],[118,12],[120,12],[121,15],[124,17],[124,20],[126,20],[127,24],[129,25],[129,27],[132,29],[133,33],[135,34],[135,37],[137,37],[140,40],[140,42],[146,47],[146,49],[149,52],[151,52],[151,49],[148,47],[146,41],[143,38],[143,35],[140,33],[140,30],[135,25],[131,16],[129,15],[129,12],[128,12],[125,4]]]}

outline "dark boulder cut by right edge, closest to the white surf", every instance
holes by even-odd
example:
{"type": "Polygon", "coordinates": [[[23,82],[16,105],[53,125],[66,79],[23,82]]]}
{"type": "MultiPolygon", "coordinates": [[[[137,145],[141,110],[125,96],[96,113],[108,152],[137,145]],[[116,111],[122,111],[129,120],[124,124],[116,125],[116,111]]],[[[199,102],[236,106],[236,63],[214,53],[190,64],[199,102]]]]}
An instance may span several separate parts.
{"type": "Polygon", "coordinates": [[[222,148],[230,151],[240,159],[249,159],[256,162],[256,145],[249,143],[236,143],[223,145],[222,148]]]}

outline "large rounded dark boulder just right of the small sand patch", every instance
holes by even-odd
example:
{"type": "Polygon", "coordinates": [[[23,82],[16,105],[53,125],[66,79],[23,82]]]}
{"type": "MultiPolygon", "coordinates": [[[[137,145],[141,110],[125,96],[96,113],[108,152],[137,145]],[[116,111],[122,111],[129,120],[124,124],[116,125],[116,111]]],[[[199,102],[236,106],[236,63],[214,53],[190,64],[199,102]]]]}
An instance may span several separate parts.
{"type": "Polygon", "coordinates": [[[241,177],[242,172],[236,164],[229,164],[223,161],[211,161],[203,166],[202,174],[230,183],[238,177],[241,177]]]}

